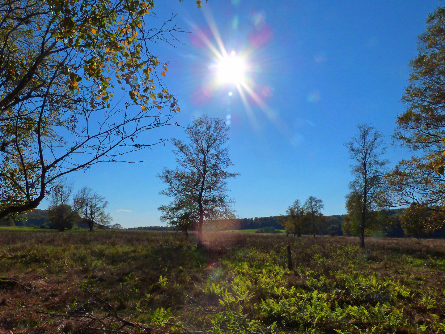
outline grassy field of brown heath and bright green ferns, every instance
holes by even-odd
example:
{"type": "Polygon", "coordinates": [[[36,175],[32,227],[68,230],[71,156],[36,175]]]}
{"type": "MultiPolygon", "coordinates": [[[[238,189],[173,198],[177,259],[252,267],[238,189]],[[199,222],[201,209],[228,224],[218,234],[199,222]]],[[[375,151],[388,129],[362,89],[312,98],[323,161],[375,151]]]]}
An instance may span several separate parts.
{"type": "Polygon", "coordinates": [[[445,333],[444,240],[206,237],[0,231],[0,333],[445,333]]]}

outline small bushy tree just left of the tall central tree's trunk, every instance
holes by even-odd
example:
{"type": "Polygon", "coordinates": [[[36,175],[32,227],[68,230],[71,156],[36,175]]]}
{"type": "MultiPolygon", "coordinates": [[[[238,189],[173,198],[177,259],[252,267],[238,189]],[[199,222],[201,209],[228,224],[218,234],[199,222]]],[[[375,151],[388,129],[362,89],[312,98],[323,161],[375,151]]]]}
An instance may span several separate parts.
{"type": "Polygon", "coordinates": [[[177,198],[169,205],[161,205],[158,210],[162,212],[159,220],[167,223],[176,231],[181,231],[189,236],[188,231],[196,227],[199,220],[199,209],[190,200],[177,198]]]}

